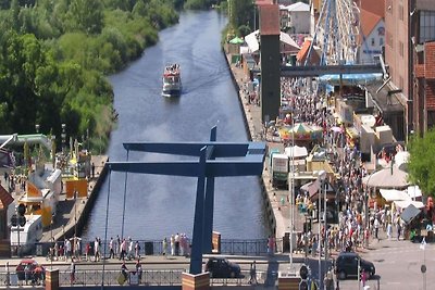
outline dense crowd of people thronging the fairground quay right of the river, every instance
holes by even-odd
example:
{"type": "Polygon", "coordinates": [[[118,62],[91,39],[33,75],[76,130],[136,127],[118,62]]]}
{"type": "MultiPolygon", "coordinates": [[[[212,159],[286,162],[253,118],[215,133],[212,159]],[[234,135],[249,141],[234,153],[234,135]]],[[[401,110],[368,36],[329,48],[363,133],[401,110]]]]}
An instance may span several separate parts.
{"type": "MultiPolygon", "coordinates": [[[[320,253],[325,244],[336,251],[353,251],[358,247],[365,247],[371,237],[378,239],[380,230],[389,239],[393,239],[393,236],[400,239],[403,236],[405,224],[400,219],[399,209],[382,209],[375,202],[374,206],[366,206],[365,213],[365,203],[369,202],[365,197],[370,197],[370,188],[368,189],[362,180],[369,172],[361,157],[358,140],[350,142],[345,126],[338,123],[333,114],[334,109],[327,105],[328,96],[310,90],[306,80],[282,78],[281,84],[282,103],[293,112],[289,123],[307,123],[322,127],[321,146],[325,149],[335,173],[327,181],[338,191],[338,224],[322,227],[320,235],[315,235],[311,229],[300,234],[298,248],[302,251],[309,249],[313,254],[320,253]]],[[[311,214],[316,207],[315,201],[310,199],[309,192],[297,189],[297,193],[298,209],[311,214]]]]}

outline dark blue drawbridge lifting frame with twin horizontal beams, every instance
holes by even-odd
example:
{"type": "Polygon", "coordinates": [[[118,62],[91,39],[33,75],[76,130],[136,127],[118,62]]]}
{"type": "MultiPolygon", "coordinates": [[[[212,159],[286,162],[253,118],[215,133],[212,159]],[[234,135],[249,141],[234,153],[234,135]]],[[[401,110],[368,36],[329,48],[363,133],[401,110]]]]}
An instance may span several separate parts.
{"type": "MultiPolygon", "coordinates": [[[[265,142],[216,142],[216,127],[208,142],[128,142],[126,162],[108,162],[110,173],[140,173],[197,177],[190,274],[202,272],[202,254],[211,253],[214,179],[228,176],[259,176],[263,171],[265,142]],[[132,162],[129,151],[192,156],[183,161],[132,162]]],[[[125,193],[124,193],[125,194],[125,193]]],[[[110,179],[108,193],[109,210],[110,179]]],[[[108,227],[108,225],[105,225],[108,227]]],[[[105,237],[107,240],[107,237],[105,237]]]]}

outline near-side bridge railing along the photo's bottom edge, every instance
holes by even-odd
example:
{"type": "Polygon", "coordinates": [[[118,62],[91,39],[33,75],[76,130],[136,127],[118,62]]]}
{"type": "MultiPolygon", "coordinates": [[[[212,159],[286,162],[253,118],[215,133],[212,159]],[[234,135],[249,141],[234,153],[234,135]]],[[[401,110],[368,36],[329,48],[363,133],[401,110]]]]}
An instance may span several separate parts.
{"type": "MultiPolygon", "coordinates": [[[[132,273],[129,279],[127,279],[124,285],[139,285],[145,286],[181,286],[182,285],[182,274],[185,269],[152,269],[144,270],[139,279],[133,279],[132,273]]],[[[104,270],[104,276],[101,269],[85,269],[76,270],[74,286],[101,286],[102,277],[104,277],[104,286],[119,286],[120,270],[104,270]]],[[[276,273],[269,272],[257,272],[257,283],[263,286],[275,286],[277,275],[276,273]]],[[[212,278],[210,279],[210,286],[247,286],[250,282],[249,270],[243,270],[240,277],[237,278],[212,278]]],[[[7,273],[0,272],[0,289],[7,286],[7,273]]],[[[9,274],[10,287],[22,287],[25,280],[18,280],[15,273],[9,274]]],[[[30,281],[28,282],[30,285],[30,281]]],[[[44,287],[42,281],[39,287],[44,287]]],[[[59,272],[59,285],[60,286],[71,286],[71,272],[60,270],[59,272]]]]}

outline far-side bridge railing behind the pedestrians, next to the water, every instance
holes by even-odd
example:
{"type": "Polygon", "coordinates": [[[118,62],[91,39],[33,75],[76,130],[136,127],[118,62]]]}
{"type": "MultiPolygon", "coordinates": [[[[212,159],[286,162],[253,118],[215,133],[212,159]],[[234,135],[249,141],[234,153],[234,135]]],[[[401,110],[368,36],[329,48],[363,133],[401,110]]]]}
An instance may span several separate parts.
{"type": "MultiPolygon", "coordinates": [[[[82,249],[80,255],[85,255],[87,241],[82,240],[82,249]]],[[[283,249],[282,245],[283,239],[276,239],[275,249],[283,249]]],[[[64,245],[63,241],[58,242],[59,248],[64,245]]],[[[139,254],[144,255],[161,255],[163,254],[163,242],[162,241],[147,241],[147,240],[139,240],[140,251],[139,254]]],[[[49,249],[53,247],[51,242],[45,243],[36,243],[30,255],[36,256],[48,256],[49,249]]],[[[102,242],[101,245],[101,255],[104,254],[105,248],[105,255],[109,255],[109,242],[102,242]]],[[[74,251],[73,251],[74,253],[74,251]]],[[[171,245],[167,244],[166,254],[171,253],[171,245]]],[[[222,240],[221,241],[221,254],[236,254],[236,255],[262,255],[268,253],[268,239],[253,239],[253,240],[222,240]]],[[[90,242],[90,255],[94,255],[94,241],[90,242]]],[[[16,252],[12,252],[13,256],[16,256],[16,252]]]]}

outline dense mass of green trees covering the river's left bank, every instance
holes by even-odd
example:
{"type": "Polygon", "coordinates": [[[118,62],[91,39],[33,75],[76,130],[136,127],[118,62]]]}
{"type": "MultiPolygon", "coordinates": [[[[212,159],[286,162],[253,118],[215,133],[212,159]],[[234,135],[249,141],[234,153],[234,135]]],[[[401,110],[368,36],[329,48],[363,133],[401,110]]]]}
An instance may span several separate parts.
{"type": "Polygon", "coordinates": [[[0,131],[80,139],[103,152],[114,124],[104,75],[139,58],[184,0],[0,0],[0,131]]]}

